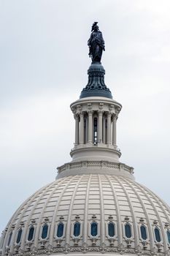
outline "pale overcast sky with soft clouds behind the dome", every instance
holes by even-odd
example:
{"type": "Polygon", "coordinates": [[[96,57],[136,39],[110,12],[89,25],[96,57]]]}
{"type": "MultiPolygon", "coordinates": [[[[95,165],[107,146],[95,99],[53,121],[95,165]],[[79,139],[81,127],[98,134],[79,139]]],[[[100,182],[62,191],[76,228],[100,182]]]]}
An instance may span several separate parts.
{"type": "Polygon", "coordinates": [[[121,162],[170,205],[170,1],[0,0],[0,231],[69,162],[98,21],[121,162]]]}

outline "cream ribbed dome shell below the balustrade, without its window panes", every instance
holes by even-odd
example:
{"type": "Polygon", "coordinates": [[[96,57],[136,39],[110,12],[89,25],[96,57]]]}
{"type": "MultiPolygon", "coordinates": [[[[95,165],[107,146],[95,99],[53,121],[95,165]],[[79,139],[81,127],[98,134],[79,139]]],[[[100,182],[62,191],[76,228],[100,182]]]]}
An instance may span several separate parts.
{"type": "Polygon", "coordinates": [[[39,189],[20,206],[1,237],[1,254],[162,254],[169,249],[169,224],[169,206],[132,179],[107,174],[67,176],[39,189]],[[74,236],[77,222],[80,234],[74,236]],[[63,225],[61,237],[57,237],[59,223],[63,225]],[[96,236],[92,236],[92,223],[97,225],[96,236]],[[109,236],[109,223],[114,225],[114,236],[109,236]],[[125,231],[127,224],[131,237],[125,231]],[[45,225],[47,237],[42,238],[45,225]],[[28,241],[31,227],[34,227],[34,235],[28,241]],[[144,239],[141,227],[146,231],[144,239]],[[19,231],[21,236],[17,243],[19,231]],[[158,233],[161,241],[158,241],[158,233]]]}

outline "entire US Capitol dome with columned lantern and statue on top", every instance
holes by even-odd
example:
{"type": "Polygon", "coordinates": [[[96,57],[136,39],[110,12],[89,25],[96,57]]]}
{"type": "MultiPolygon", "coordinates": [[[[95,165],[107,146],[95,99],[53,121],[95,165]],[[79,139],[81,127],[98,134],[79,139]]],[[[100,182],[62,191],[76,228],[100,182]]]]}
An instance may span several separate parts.
{"type": "Polygon", "coordinates": [[[93,23],[88,85],[71,104],[72,162],[31,195],[1,235],[0,255],[170,255],[170,208],[120,162],[122,106],[104,83],[104,39],[93,23]]]}

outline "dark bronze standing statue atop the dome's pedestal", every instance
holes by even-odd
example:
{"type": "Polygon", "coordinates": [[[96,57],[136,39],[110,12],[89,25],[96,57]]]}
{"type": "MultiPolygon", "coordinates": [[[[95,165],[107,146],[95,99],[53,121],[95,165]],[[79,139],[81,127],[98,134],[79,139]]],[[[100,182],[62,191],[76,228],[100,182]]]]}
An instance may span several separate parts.
{"type": "Polygon", "coordinates": [[[89,57],[91,57],[92,62],[100,62],[102,51],[104,48],[104,39],[101,31],[98,30],[98,22],[94,22],[91,28],[90,39],[88,39],[89,46],[89,57]]]}

